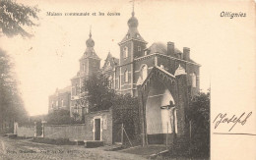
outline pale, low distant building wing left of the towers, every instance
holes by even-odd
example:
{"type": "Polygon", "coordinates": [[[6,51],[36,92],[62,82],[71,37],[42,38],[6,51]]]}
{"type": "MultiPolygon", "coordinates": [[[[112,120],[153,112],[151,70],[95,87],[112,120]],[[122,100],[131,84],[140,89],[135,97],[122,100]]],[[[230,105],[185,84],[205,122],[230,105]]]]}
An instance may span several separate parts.
{"type": "Polygon", "coordinates": [[[48,113],[55,110],[70,110],[71,86],[63,89],[56,88],[54,94],[49,96],[48,113]]]}

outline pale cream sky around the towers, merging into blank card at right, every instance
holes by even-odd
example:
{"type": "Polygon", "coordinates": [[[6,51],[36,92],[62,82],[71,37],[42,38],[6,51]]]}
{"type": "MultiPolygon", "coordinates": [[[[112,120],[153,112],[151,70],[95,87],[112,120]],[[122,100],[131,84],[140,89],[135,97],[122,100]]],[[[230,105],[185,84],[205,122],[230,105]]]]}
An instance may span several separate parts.
{"type": "MultiPolygon", "coordinates": [[[[0,39],[1,47],[15,61],[19,87],[30,115],[46,114],[48,96],[57,87],[71,84],[71,78],[79,71],[79,59],[86,50],[91,26],[101,66],[109,51],[119,58],[118,42],[128,30],[127,21],[132,12],[129,0],[17,2],[37,5],[41,10],[38,27],[28,28],[33,33],[32,38],[3,36],[0,39]],[[46,16],[47,12],[101,12],[105,15],[46,16]],[[120,13],[120,16],[107,16],[108,12],[120,13]]],[[[255,54],[248,55],[255,53],[252,13],[250,2],[135,1],[138,29],[149,42],[148,47],[158,41],[165,44],[172,41],[179,50],[189,47],[191,58],[202,65],[201,88],[207,90],[211,83],[217,90],[217,101],[224,100],[218,93],[228,93],[224,88],[244,84],[239,88],[255,87],[252,79],[244,79],[252,76],[249,71],[255,69],[255,54]],[[239,9],[236,9],[237,6],[239,9]],[[221,18],[223,11],[246,13],[247,17],[221,18]],[[244,56],[247,58],[244,59],[244,56]],[[235,82],[228,82],[232,79],[235,82]]],[[[228,98],[233,97],[230,95],[228,98]]]]}

